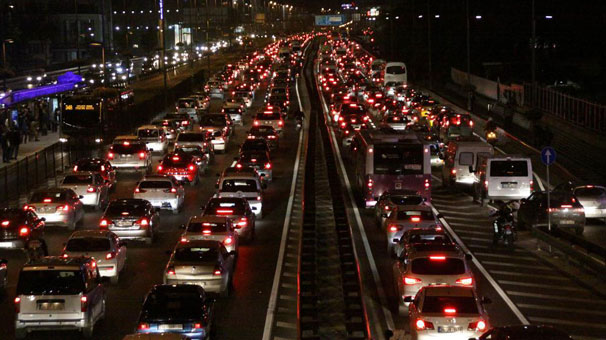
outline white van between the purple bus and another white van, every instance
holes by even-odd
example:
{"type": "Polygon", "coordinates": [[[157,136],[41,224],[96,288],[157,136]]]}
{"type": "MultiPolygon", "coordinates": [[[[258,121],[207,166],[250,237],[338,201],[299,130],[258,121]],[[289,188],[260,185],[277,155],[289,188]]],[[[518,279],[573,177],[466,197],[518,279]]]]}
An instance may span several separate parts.
{"type": "Polygon", "coordinates": [[[448,142],[443,156],[442,184],[446,187],[456,184],[473,185],[476,181],[473,170],[476,168],[478,157],[492,155],[492,145],[476,137],[448,142]]]}

